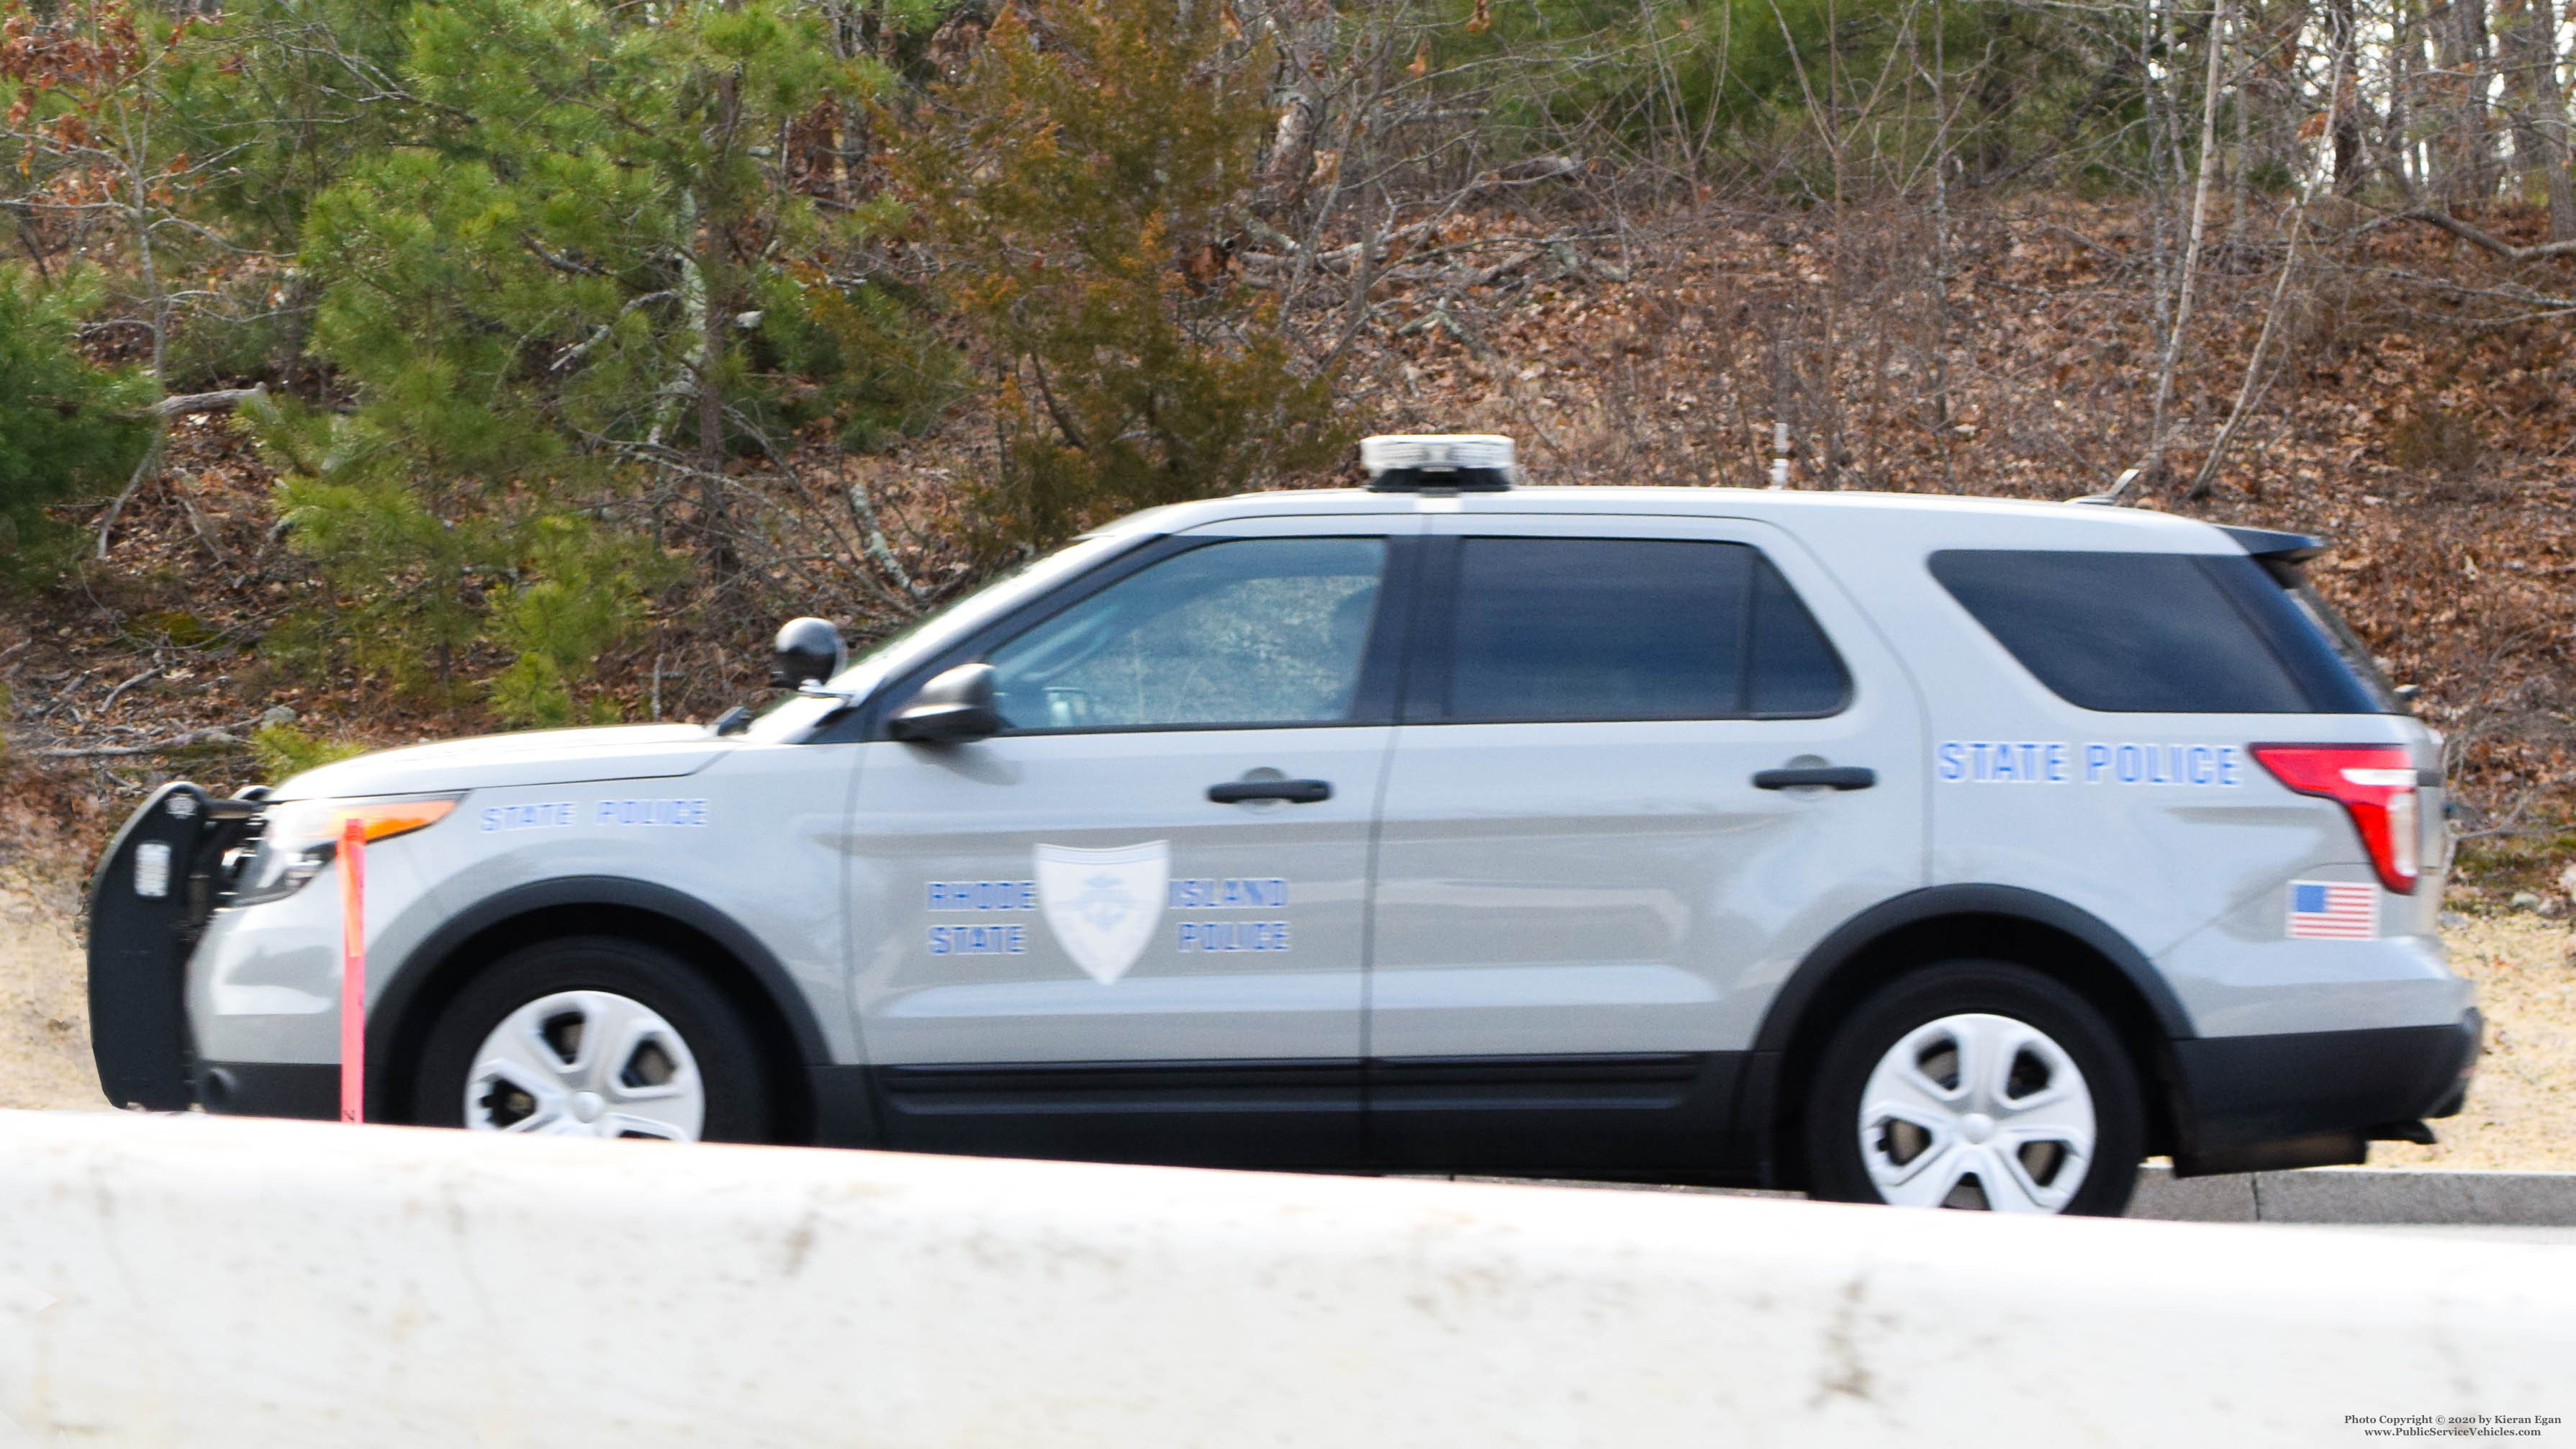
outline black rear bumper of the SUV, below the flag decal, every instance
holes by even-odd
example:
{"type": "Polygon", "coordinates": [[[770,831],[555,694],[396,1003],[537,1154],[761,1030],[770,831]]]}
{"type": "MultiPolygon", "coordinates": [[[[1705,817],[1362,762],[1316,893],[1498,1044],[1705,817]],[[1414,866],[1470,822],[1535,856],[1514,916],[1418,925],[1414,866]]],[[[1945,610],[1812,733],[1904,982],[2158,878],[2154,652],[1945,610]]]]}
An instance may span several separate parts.
{"type": "Polygon", "coordinates": [[[2478,1067],[2486,1021],[2174,1042],[2174,1176],[2362,1163],[2372,1140],[2432,1142],[2478,1067]]]}

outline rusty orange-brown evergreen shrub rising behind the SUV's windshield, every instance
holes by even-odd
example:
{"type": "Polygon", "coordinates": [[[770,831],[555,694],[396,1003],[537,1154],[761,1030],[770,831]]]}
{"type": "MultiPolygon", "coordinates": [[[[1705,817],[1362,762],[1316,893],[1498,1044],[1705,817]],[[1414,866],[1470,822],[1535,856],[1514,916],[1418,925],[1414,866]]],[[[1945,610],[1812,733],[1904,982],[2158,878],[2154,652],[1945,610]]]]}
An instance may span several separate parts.
{"type": "Polygon", "coordinates": [[[1007,8],[899,142],[940,289],[997,382],[987,552],[1319,469],[1350,441],[1270,299],[1206,266],[1270,121],[1270,57],[1224,26],[1224,5],[1180,0],[1007,8]]]}

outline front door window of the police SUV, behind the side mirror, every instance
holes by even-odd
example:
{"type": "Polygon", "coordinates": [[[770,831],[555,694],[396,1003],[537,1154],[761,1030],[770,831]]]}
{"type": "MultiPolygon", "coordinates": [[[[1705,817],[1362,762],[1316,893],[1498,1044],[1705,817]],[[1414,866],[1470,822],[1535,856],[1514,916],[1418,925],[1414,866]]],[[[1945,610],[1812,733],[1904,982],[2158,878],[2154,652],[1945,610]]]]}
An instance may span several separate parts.
{"type": "Polygon", "coordinates": [[[1386,539],[1172,554],[994,650],[994,701],[1012,730],[1347,719],[1383,570],[1386,539]]]}

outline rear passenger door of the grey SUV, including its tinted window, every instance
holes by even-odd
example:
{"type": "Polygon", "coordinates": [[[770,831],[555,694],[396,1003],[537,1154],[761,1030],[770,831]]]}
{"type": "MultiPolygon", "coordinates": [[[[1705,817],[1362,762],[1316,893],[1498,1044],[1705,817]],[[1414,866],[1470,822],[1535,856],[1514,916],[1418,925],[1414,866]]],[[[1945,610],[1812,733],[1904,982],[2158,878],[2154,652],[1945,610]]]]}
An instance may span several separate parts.
{"type": "Polygon", "coordinates": [[[1376,869],[1378,1160],[1705,1165],[1777,982],[1924,879],[1914,688],[1759,523],[1450,516],[1425,554],[1376,869]]]}

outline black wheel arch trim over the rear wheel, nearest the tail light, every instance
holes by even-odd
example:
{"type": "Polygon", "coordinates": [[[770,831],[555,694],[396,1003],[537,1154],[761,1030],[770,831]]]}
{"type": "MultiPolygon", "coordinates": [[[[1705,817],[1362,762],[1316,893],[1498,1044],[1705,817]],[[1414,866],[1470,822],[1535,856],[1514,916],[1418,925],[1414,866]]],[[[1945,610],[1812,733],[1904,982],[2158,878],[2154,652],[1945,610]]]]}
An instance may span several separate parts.
{"type": "Polygon", "coordinates": [[[2179,1067],[2172,1044],[2195,1036],[2182,1000],[2136,944],[2053,895],[2004,884],[1942,884],[1883,900],[1816,944],[1772,998],[1754,1034],[1747,1114],[1767,1186],[1803,1186],[1798,1114],[1806,1080],[1842,1013],[1911,967],[1986,957],[2045,972],[2094,1003],[2138,1065],[2148,1152],[2177,1147],[2179,1067]]]}

